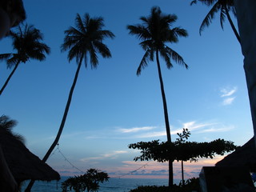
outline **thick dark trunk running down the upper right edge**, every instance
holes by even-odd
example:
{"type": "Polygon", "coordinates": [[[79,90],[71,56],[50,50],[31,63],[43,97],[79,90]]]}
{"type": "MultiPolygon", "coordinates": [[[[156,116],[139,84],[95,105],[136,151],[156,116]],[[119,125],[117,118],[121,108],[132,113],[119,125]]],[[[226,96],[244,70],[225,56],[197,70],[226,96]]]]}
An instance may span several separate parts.
{"type": "Polygon", "coordinates": [[[256,18],[256,3],[254,0],[235,0],[234,6],[237,11],[238,29],[241,34],[242,54],[245,57],[244,70],[250,100],[250,112],[254,126],[254,138],[256,138],[256,30],[255,26],[252,25],[252,22],[256,18]]]}

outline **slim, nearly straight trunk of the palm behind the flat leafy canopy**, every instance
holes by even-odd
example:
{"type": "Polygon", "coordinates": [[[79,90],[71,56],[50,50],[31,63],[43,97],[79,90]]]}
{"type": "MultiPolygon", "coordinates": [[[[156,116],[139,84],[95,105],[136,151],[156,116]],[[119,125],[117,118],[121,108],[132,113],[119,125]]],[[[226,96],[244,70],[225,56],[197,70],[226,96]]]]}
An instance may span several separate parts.
{"type": "MultiPolygon", "coordinates": [[[[160,62],[159,62],[158,50],[156,52],[156,55],[157,55],[157,64],[158,64],[158,76],[159,76],[161,93],[162,93],[162,104],[163,104],[163,110],[164,110],[164,114],[165,114],[167,141],[171,142],[170,124],[169,124],[168,110],[167,110],[167,104],[166,104],[166,94],[165,94],[165,90],[164,90],[164,86],[163,86],[163,82],[162,82],[162,73],[161,73],[161,67],[160,67],[160,62]]],[[[174,172],[173,162],[170,160],[169,161],[169,186],[174,185],[174,173],[173,172],[174,172]]]]}

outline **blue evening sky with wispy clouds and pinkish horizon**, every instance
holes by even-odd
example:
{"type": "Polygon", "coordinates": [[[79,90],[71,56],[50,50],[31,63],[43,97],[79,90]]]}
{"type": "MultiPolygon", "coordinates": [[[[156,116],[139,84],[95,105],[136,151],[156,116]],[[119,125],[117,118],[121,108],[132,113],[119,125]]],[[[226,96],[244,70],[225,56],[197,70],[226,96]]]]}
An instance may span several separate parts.
{"type": "MultiPolygon", "coordinates": [[[[189,141],[210,142],[223,138],[243,145],[253,136],[241,47],[229,23],[222,30],[219,18],[202,35],[199,26],[210,7],[189,0],[23,0],[26,22],[41,30],[51,48],[46,61],[30,60],[18,66],[0,98],[0,114],[18,121],[14,132],[26,138],[26,147],[42,158],[58,132],[77,64],[61,52],[64,30],[74,26],[76,14],[103,17],[112,58],[99,57],[96,70],[82,66],[66,125],[47,163],[62,175],[81,174],[97,168],[111,177],[167,178],[166,163],[134,162],[134,142],[166,141],[162,96],[156,62],[138,77],[144,51],[127,25],[140,23],[152,6],[164,14],[176,14],[174,26],[189,37],[169,46],[181,54],[189,69],[162,66],[173,141],[182,128],[189,141]],[[136,170],[136,171],[134,171],[136,170]],[[131,174],[131,172],[133,174],[131,174]]],[[[236,24],[236,21],[234,20],[236,24]]],[[[0,54],[12,53],[11,40],[3,38],[0,54]]],[[[0,65],[0,84],[10,74],[0,65]]],[[[223,157],[186,162],[186,178],[198,177],[202,166],[214,166],[223,157]]],[[[174,162],[174,178],[181,178],[181,164],[174,162]]]]}

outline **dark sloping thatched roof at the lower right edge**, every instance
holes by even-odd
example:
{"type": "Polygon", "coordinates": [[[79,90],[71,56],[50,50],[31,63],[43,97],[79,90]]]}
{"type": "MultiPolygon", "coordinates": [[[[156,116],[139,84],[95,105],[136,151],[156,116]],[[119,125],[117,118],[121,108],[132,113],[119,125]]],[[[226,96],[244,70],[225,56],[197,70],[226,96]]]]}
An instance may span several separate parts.
{"type": "Polygon", "coordinates": [[[254,138],[238,147],[233,153],[227,155],[215,166],[246,166],[251,172],[256,172],[256,147],[254,138]]]}

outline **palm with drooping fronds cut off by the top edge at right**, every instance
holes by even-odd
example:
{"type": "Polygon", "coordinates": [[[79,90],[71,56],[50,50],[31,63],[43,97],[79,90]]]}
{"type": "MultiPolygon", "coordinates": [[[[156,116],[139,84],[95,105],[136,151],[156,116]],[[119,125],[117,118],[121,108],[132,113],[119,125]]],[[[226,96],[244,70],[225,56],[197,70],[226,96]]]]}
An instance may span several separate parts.
{"type": "Polygon", "coordinates": [[[236,38],[238,39],[238,42],[241,43],[238,30],[236,30],[234,26],[234,22],[230,18],[230,10],[234,13],[234,16],[236,16],[236,12],[234,9],[234,0],[193,0],[190,3],[190,5],[196,4],[198,1],[202,2],[203,5],[212,6],[209,13],[206,14],[206,18],[204,18],[204,20],[202,21],[202,24],[199,29],[199,34],[202,33],[202,30],[204,30],[206,26],[210,26],[210,23],[214,18],[215,14],[218,13],[218,11],[220,11],[220,21],[221,21],[222,29],[223,29],[223,22],[227,17],[228,21],[230,22],[230,26],[234,31],[236,38]]]}

